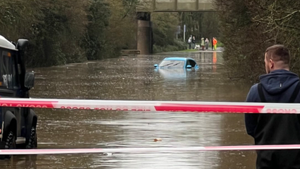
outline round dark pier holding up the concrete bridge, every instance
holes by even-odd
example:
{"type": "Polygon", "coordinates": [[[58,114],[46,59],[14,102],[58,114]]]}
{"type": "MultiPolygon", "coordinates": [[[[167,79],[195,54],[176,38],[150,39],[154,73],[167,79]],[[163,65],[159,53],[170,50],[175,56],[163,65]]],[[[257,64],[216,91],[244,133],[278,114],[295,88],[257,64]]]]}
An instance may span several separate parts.
{"type": "Polygon", "coordinates": [[[140,54],[152,53],[152,22],[150,12],[137,12],[137,50],[140,54]]]}

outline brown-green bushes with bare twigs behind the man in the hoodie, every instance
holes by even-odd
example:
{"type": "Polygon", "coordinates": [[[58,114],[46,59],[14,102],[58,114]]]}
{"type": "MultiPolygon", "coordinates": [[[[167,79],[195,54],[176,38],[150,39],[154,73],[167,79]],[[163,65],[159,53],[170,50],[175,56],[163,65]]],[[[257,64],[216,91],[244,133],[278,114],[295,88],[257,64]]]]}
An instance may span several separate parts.
{"type": "Polygon", "coordinates": [[[257,81],[264,73],[264,52],[274,44],[289,48],[292,71],[300,73],[299,1],[215,0],[215,5],[231,76],[257,81]]]}

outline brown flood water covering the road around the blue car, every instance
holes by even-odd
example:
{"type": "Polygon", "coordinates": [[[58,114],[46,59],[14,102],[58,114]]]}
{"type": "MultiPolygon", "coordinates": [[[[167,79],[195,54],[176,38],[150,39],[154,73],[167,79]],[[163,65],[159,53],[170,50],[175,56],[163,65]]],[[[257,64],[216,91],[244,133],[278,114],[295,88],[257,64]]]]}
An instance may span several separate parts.
{"type": "MultiPolygon", "coordinates": [[[[222,54],[122,56],[36,68],[32,98],[236,101],[251,84],[226,76],[222,54]],[[189,56],[199,70],[159,70],[164,57],[189,56]]],[[[117,112],[35,109],[38,148],[121,148],[247,145],[243,114],[117,112]],[[162,141],[154,142],[155,138],[162,141]]],[[[255,168],[254,151],[14,156],[14,169],[233,169],[255,168]]]]}

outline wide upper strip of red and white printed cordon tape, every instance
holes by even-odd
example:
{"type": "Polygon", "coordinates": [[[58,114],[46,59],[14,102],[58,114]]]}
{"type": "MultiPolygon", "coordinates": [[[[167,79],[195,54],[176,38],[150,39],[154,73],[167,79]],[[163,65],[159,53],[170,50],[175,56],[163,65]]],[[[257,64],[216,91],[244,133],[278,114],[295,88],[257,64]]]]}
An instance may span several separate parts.
{"type": "Polygon", "coordinates": [[[33,107],[116,111],[180,111],[218,113],[300,113],[299,103],[123,101],[0,98],[0,107],[33,107]]]}

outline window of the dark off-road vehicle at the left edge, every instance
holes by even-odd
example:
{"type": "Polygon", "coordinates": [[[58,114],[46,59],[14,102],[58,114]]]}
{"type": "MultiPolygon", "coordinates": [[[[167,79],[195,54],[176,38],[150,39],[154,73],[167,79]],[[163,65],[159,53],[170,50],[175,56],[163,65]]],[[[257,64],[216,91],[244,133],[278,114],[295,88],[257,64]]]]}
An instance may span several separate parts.
{"type": "Polygon", "coordinates": [[[13,89],[16,83],[14,52],[0,48],[0,88],[13,89]]]}

